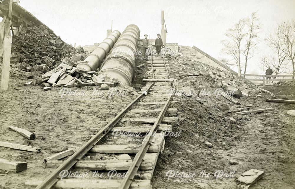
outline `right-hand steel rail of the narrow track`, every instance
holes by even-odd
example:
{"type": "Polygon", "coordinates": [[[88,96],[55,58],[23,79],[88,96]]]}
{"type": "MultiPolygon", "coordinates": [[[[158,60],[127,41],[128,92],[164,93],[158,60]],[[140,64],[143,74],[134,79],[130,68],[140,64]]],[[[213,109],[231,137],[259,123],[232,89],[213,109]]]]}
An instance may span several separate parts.
{"type": "MultiPolygon", "coordinates": [[[[153,57],[153,56],[152,56],[153,57]]],[[[164,60],[165,62],[165,60],[164,60]]],[[[153,65],[153,64],[152,64],[153,65]]],[[[168,72],[168,70],[166,70],[168,72]]],[[[170,76],[169,76],[170,77],[170,76]]],[[[153,134],[155,134],[158,130],[158,125],[161,123],[167,109],[168,106],[171,103],[171,100],[175,94],[175,85],[173,83],[173,91],[171,96],[169,96],[169,98],[167,99],[166,103],[164,104],[160,114],[158,115],[155,123],[153,124],[152,128],[150,129],[149,133],[145,136],[145,138],[143,139],[143,143],[139,149],[139,151],[137,152],[137,154],[135,155],[132,165],[129,167],[126,176],[124,177],[124,179],[121,182],[121,185],[119,186],[119,189],[129,189],[132,180],[134,179],[137,170],[142,162],[142,159],[144,158],[146,152],[148,151],[148,148],[150,147],[150,139],[153,136],[153,134]]]]}

